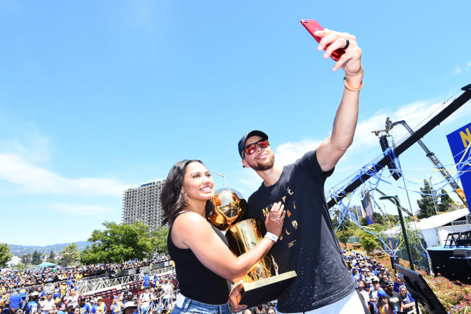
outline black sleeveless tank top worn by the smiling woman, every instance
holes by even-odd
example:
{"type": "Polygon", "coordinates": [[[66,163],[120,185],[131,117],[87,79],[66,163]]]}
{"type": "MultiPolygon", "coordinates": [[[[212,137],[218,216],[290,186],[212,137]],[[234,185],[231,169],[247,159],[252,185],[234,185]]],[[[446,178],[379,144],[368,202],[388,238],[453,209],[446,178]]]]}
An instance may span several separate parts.
{"type": "MultiPolygon", "coordinates": [[[[183,214],[183,211],[180,214],[183,214]]],[[[178,216],[177,216],[178,217],[178,216]]],[[[209,222],[208,222],[209,223],[209,222]]],[[[226,237],[216,227],[211,225],[214,232],[224,241],[226,237]]],[[[175,262],[175,272],[180,292],[187,298],[207,304],[225,304],[229,298],[229,283],[206,268],[190,249],[181,249],[172,241],[172,228],[168,231],[167,248],[170,257],[175,262]]]]}

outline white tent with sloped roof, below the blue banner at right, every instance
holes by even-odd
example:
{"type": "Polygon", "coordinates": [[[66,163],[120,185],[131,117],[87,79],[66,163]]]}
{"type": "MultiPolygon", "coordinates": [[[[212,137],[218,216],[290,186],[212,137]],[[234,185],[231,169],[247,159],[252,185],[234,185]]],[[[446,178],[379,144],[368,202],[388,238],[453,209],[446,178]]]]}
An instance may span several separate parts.
{"type": "MultiPolygon", "coordinates": [[[[419,222],[416,222],[417,229],[420,229],[422,232],[423,238],[427,243],[428,247],[433,246],[443,246],[445,245],[445,239],[448,233],[457,232],[457,227],[452,225],[454,221],[466,221],[466,216],[470,214],[470,211],[465,209],[458,209],[453,211],[448,211],[440,215],[435,215],[428,218],[420,219],[419,222]]],[[[409,223],[410,228],[414,228],[414,223],[409,223]]],[[[471,225],[469,221],[467,224],[462,224],[459,226],[459,231],[463,228],[466,230],[471,230],[471,225]]],[[[386,235],[392,236],[401,232],[401,227],[396,226],[389,230],[385,231],[386,235]]]]}

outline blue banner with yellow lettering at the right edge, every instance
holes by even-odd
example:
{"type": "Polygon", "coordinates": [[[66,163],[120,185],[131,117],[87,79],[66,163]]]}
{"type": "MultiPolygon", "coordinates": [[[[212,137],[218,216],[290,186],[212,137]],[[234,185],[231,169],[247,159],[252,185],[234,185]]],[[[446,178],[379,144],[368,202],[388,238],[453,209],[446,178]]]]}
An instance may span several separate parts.
{"type": "MultiPolygon", "coordinates": [[[[446,135],[465,195],[471,195],[471,123],[446,135]]],[[[470,209],[471,212],[471,209],[470,209]]]]}

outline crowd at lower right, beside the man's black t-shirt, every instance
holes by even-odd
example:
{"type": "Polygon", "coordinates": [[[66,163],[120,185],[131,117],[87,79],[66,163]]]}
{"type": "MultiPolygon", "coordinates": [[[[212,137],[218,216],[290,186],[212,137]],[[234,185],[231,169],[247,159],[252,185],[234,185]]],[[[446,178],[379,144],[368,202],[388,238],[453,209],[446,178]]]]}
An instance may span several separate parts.
{"type": "Polygon", "coordinates": [[[344,250],[343,257],[371,314],[415,313],[415,300],[399,273],[392,276],[385,265],[359,253],[344,250]]]}

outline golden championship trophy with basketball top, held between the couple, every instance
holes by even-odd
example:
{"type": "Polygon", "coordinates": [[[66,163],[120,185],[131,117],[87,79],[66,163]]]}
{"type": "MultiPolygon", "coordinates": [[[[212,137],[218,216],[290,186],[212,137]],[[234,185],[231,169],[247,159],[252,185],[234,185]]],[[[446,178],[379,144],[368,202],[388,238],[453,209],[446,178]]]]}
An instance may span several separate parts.
{"type": "MultiPolygon", "coordinates": [[[[209,217],[216,228],[226,232],[229,249],[238,257],[253,248],[266,233],[265,224],[259,219],[242,220],[247,202],[242,194],[234,189],[221,188],[214,192],[214,214],[209,217]]],[[[276,275],[271,254],[253,265],[242,279],[241,298],[238,304],[248,308],[267,303],[278,298],[284,288],[296,277],[296,272],[288,271],[276,275]]]]}

